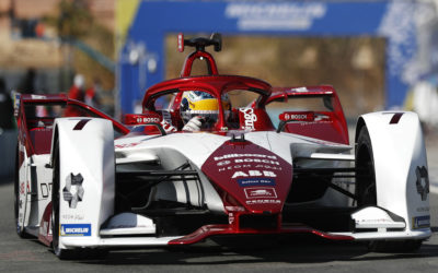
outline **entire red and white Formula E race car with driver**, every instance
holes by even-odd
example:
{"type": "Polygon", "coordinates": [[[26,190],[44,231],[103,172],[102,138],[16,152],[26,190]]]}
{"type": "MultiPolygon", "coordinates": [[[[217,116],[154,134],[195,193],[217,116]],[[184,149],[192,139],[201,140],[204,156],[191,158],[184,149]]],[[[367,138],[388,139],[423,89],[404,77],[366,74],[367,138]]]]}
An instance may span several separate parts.
{"type": "Polygon", "coordinates": [[[15,94],[15,219],[61,259],[209,237],[313,234],[371,250],[429,238],[418,117],[362,115],[354,144],[335,90],[218,73],[194,47],[181,78],[150,87],[120,123],[65,95],[15,94]],[[208,73],[192,75],[194,61],[208,73]]]}

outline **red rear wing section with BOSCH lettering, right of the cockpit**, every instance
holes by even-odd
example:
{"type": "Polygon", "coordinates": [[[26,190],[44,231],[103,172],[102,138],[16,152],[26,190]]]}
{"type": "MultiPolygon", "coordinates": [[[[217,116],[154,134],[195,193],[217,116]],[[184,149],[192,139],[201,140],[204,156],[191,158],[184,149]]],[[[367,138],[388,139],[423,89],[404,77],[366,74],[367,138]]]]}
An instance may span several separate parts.
{"type": "Polygon", "coordinates": [[[348,144],[348,128],[339,98],[331,85],[273,87],[266,105],[279,107],[280,131],[348,144]],[[291,100],[300,102],[299,105],[291,100]],[[318,106],[314,103],[320,100],[318,106]],[[307,103],[309,102],[309,103],[307,103]],[[314,109],[312,107],[315,107],[314,109]],[[306,117],[287,120],[285,117],[306,117]],[[312,120],[309,120],[311,117],[312,120]]]}

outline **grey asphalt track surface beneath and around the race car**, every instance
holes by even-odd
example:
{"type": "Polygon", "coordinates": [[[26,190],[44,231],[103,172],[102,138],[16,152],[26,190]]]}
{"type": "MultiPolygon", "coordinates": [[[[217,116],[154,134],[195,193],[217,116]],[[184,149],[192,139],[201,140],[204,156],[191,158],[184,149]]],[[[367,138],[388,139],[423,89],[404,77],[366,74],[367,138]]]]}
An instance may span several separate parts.
{"type": "Polygon", "coordinates": [[[438,272],[438,136],[427,138],[433,237],[415,253],[368,252],[362,244],[249,237],[184,248],[112,251],[103,260],[60,261],[35,239],[20,239],[13,185],[0,180],[0,272],[438,272]]]}

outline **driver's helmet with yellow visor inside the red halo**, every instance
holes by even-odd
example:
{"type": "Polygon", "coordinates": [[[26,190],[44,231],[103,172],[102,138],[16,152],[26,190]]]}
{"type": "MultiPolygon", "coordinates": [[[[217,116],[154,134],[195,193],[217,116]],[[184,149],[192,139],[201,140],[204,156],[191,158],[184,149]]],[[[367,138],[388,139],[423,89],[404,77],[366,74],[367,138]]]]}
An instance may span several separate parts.
{"type": "MultiPolygon", "coordinates": [[[[222,95],[221,100],[227,118],[231,109],[230,99],[228,95],[222,95]]],[[[200,116],[204,119],[203,128],[211,128],[219,118],[218,99],[207,92],[186,91],[181,99],[180,112],[184,124],[192,118],[200,116]]]]}

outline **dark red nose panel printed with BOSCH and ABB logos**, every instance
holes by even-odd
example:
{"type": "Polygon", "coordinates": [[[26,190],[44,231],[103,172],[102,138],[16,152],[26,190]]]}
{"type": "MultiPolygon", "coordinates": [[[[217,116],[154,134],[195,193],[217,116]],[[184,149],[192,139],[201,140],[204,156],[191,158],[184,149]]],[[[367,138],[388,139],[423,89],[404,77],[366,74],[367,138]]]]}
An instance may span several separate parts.
{"type": "Polygon", "coordinates": [[[292,181],[288,162],[250,141],[223,143],[201,170],[252,213],[280,213],[292,181]]]}

